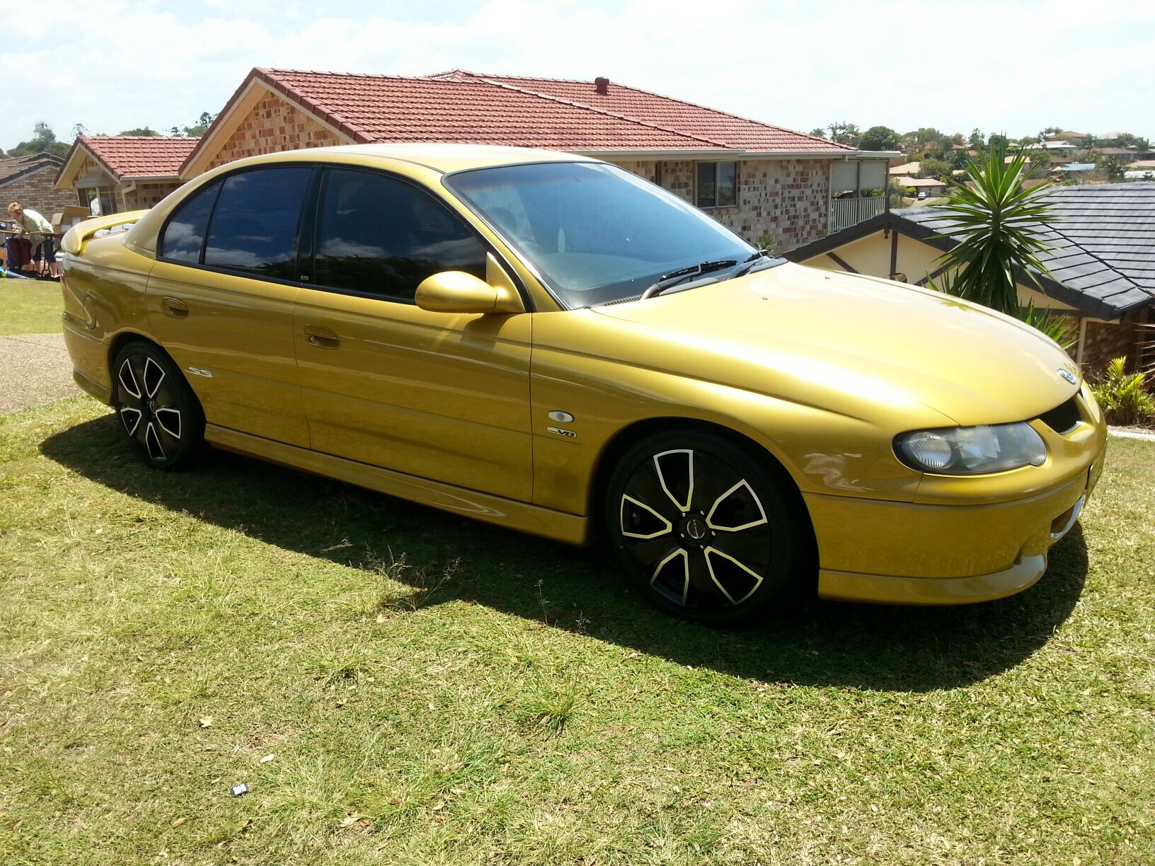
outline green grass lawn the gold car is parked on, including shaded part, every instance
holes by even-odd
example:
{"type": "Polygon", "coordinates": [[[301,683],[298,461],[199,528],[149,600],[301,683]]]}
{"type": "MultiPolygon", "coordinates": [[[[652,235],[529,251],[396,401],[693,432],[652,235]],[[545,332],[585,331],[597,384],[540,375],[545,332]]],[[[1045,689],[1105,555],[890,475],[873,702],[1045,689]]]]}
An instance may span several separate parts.
{"type": "Polygon", "coordinates": [[[0,417],[0,863],[1155,863],[1155,443],[1110,447],[1015,598],[720,633],[596,552],[151,471],[83,397],[0,417]]]}

